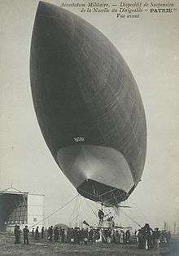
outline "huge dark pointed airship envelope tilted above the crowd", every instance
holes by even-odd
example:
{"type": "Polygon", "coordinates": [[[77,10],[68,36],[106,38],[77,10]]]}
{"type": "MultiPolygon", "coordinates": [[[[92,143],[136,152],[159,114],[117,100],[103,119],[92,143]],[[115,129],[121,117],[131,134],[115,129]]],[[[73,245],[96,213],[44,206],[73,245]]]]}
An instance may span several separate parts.
{"type": "Polygon", "coordinates": [[[78,15],[39,2],[30,80],[41,133],[77,192],[106,206],[125,201],[142,177],[146,117],[116,46],[78,15]]]}

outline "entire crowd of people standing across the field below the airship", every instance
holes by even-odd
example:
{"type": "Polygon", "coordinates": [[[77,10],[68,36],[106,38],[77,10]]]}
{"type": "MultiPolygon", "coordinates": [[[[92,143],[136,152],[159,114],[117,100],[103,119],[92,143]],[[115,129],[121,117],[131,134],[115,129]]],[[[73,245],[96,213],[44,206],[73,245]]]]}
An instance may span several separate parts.
{"type": "MultiPolygon", "coordinates": [[[[132,241],[130,231],[126,230],[124,232],[124,230],[120,228],[68,227],[68,229],[63,229],[58,226],[50,226],[47,229],[45,229],[45,227],[41,227],[40,231],[39,227],[36,227],[29,232],[28,226],[25,226],[21,232],[20,226],[15,225],[15,244],[20,243],[21,233],[24,236],[24,244],[27,245],[29,233],[36,241],[40,241],[45,238],[50,242],[59,241],[60,243],[71,243],[76,245],[83,245],[88,242],[129,245],[132,241]]],[[[135,232],[135,237],[138,242],[138,249],[158,249],[161,245],[168,245],[171,235],[170,232],[159,231],[159,228],[157,227],[152,230],[149,224],[146,223],[144,227],[135,232]]]]}

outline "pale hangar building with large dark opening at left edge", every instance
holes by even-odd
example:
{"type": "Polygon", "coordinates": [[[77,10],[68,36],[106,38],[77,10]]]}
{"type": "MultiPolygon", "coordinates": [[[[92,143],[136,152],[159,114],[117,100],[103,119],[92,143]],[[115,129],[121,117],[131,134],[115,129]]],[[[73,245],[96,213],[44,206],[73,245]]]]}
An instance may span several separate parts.
{"type": "Polygon", "coordinates": [[[25,225],[36,226],[36,223],[42,227],[44,218],[44,195],[20,192],[15,188],[0,191],[0,231],[12,232],[15,224],[21,229],[25,225]]]}

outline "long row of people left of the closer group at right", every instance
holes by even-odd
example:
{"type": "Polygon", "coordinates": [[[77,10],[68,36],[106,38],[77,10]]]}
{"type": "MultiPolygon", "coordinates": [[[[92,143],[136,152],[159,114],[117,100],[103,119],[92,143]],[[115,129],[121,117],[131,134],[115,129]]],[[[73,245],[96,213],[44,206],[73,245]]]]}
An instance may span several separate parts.
{"type": "Polygon", "coordinates": [[[15,244],[20,243],[20,236],[24,236],[24,244],[28,244],[29,233],[34,240],[39,241],[46,238],[48,241],[59,241],[61,243],[73,243],[73,244],[86,244],[89,242],[107,242],[107,243],[120,243],[129,244],[130,243],[130,232],[127,230],[101,228],[101,227],[90,227],[90,228],[80,228],[80,227],[69,227],[67,230],[61,227],[50,226],[46,230],[44,227],[39,227],[32,229],[31,232],[28,230],[28,226],[25,226],[23,231],[20,230],[20,226],[15,225],[14,235],[15,244]]]}

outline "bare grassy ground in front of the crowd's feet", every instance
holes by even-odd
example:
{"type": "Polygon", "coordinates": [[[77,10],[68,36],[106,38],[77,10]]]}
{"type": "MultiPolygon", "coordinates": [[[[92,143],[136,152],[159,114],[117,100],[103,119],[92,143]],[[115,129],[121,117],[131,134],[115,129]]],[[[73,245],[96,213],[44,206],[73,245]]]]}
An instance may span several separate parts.
{"type": "Polygon", "coordinates": [[[30,245],[15,245],[14,237],[10,235],[0,235],[0,255],[170,255],[179,256],[179,237],[172,237],[168,248],[160,249],[138,249],[137,245],[107,245],[107,244],[88,244],[88,245],[70,245],[49,242],[44,239],[41,242],[35,242],[30,239],[30,245]]]}

